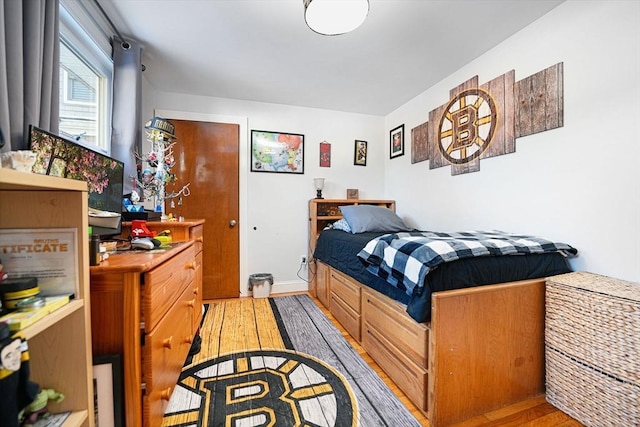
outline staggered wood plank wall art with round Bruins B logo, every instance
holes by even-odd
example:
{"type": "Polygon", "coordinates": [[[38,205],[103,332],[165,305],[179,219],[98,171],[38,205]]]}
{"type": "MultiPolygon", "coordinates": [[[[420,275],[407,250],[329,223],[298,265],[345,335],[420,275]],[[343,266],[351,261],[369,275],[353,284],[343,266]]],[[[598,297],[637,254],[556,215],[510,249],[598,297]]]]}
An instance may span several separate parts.
{"type": "Polygon", "coordinates": [[[481,159],[515,152],[516,138],[563,126],[563,63],[518,82],[514,70],[482,85],[474,76],[449,98],[411,130],[411,163],[477,172],[481,159]]]}

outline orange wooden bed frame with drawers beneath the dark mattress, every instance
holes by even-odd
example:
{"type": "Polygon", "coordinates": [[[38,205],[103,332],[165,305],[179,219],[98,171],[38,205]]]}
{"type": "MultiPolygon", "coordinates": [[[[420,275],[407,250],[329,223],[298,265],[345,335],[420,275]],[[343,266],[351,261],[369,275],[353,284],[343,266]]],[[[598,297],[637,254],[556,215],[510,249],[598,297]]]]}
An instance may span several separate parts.
{"type": "Polygon", "coordinates": [[[312,293],[432,427],[544,393],[545,279],[435,292],[431,321],[418,323],[404,305],[315,267],[312,293]]]}

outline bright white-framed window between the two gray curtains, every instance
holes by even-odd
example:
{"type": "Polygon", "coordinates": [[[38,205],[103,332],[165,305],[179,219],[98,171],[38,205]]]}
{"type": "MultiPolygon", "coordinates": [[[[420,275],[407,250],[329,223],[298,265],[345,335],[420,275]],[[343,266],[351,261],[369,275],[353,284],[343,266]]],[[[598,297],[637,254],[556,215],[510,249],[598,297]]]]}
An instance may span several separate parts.
{"type": "Polygon", "coordinates": [[[113,62],[60,7],[60,135],[110,154],[113,62]]]}

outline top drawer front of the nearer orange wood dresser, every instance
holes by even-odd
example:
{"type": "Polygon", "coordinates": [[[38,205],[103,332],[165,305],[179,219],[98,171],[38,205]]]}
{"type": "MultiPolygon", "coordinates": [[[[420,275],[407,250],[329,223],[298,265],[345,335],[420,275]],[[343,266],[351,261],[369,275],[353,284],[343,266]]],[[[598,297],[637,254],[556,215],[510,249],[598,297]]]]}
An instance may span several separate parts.
{"type": "Polygon", "coordinates": [[[193,281],[196,268],[195,249],[191,246],[145,274],[142,318],[146,332],[155,328],[187,285],[193,281]]]}

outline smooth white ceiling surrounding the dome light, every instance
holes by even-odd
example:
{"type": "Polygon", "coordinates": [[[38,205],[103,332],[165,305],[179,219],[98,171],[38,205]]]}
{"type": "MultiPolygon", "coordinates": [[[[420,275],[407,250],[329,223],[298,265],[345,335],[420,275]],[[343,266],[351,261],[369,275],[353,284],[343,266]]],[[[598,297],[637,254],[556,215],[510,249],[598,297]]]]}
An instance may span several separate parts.
{"type": "MultiPolygon", "coordinates": [[[[364,24],[321,36],[303,0],[99,0],[143,45],[151,86],[386,115],[564,0],[370,0],[364,24]]],[[[471,76],[470,76],[471,77],[471,76]]]]}

